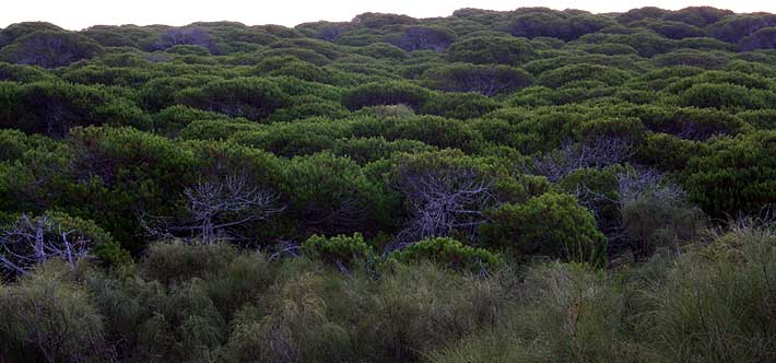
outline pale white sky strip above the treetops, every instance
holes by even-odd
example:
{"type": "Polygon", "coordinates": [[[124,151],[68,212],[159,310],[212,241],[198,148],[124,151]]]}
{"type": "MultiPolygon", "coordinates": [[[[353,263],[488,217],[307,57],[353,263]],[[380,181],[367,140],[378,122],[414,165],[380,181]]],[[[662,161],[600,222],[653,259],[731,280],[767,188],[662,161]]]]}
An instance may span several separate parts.
{"type": "Polygon", "coordinates": [[[736,12],[776,13],[774,0],[2,0],[0,27],[23,21],[46,21],[69,30],[91,25],[167,24],[236,21],[247,25],[294,26],[318,20],[346,21],[373,11],[414,17],[447,16],[460,8],[513,10],[522,7],[575,8],[591,12],[622,12],[633,8],[681,9],[710,5],[736,12]]]}

